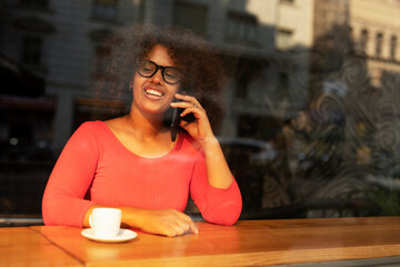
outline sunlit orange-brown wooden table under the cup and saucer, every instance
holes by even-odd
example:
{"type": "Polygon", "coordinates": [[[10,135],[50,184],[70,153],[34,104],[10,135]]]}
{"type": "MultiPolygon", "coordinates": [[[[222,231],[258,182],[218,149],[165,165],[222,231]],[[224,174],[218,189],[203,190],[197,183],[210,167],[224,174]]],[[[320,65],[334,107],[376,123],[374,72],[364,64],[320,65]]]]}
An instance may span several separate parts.
{"type": "Polygon", "coordinates": [[[139,231],[122,244],[91,241],[72,227],[2,228],[0,263],[46,266],[48,260],[54,266],[57,258],[60,266],[274,266],[386,257],[400,266],[400,217],[196,224],[199,235],[168,238],[139,231]]]}

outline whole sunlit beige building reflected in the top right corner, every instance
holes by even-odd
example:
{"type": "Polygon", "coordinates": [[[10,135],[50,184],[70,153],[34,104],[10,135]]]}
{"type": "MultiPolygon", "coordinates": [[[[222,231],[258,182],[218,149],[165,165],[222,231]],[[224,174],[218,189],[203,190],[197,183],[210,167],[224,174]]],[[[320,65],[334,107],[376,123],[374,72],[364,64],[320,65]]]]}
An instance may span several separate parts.
{"type": "Polygon", "coordinates": [[[348,30],[348,36],[342,36],[352,42],[348,55],[366,60],[372,86],[382,86],[383,73],[400,73],[400,1],[316,1],[314,10],[313,41],[332,34],[332,29],[348,30]]]}

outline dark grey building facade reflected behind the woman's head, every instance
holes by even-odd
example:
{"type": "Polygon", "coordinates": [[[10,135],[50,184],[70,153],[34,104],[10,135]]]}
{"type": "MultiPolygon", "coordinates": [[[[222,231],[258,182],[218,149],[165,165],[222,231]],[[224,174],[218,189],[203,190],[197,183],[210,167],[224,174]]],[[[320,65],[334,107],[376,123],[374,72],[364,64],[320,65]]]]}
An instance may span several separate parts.
{"type": "Polygon", "coordinates": [[[110,112],[102,107],[114,107],[111,117],[122,112],[119,103],[90,99],[89,72],[109,52],[102,40],[138,22],[186,27],[214,43],[231,77],[220,135],[268,139],[269,118],[291,116],[306,102],[312,2],[13,0],[3,3],[1,50],[46,80],[57,154],[80,122],[110,112]]]}

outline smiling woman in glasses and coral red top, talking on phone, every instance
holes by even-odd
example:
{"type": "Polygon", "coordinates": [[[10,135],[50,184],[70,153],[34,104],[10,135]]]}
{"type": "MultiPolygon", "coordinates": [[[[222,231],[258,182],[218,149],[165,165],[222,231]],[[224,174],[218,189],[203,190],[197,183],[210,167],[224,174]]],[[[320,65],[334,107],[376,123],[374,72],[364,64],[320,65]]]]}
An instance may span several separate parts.
{"type": "Polygon", "coordinates": [[[183,214],[189,196],[207,221],[234,224],[241,196],[208,117],[221,106],[223,83],[209,44],[189,32],[156,27],[129,28],[112,43],[103,83],[112,92],[130,91],[130,111],[84,122],[72,135],[44,191],[44,224],[88,227],[93,208],[116,207],[124,227],[197,234],[183,214]],[[174,139],[164,121],[166,112],[178,108],[181,118],[191,113],[194,119],[181,120],[174,139]]]}

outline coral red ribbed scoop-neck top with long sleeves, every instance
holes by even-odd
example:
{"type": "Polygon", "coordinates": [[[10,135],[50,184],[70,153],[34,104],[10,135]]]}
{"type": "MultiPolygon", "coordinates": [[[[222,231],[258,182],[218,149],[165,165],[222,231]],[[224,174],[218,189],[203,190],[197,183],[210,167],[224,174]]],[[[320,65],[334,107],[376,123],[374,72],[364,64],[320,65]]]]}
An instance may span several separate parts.
{"type": "Polygon", "coordinates": [[[44,190],[46,225],[82,227],[93,204],[183,211],[189,194],[202,217],[234,224],[241,196],[233,180],[227,189],[211,187],[202,150],[179,135],[174,148],[159,158],[129,151],[103,121],[81,125],[62,150],[44,190]]]}

